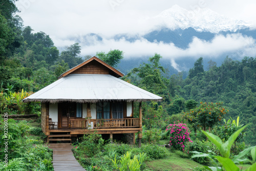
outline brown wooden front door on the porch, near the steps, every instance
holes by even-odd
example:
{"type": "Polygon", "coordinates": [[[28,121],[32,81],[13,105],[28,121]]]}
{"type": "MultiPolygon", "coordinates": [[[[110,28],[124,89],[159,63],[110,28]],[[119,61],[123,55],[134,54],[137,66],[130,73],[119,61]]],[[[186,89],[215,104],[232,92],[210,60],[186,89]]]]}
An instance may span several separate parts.
{"type": "Polygon", "coordinates": [[[60,117],[61,117],[61,125],[60,127],[70,127],[70,120],[74,119],[76,113],[76,103],[61,103],[60,105],[60,117]]]}

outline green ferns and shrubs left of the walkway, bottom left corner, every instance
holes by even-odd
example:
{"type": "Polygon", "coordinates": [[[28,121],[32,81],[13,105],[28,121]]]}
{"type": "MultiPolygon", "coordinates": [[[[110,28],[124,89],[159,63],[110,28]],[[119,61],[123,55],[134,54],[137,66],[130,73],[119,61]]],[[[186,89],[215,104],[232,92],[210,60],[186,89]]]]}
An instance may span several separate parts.
{"type": "Polygon", "coordinates": [[[52,150],[43,144],[44,137],[39,137],[41,129],[35,129],[26,120],[1,120],[0,135],[1,170],[53,170],[52,150]],[[8,123],[8,137],[4,134],[5,123],[8,123]],[[7,144],[4,139],[9,139],[7,144]]]}

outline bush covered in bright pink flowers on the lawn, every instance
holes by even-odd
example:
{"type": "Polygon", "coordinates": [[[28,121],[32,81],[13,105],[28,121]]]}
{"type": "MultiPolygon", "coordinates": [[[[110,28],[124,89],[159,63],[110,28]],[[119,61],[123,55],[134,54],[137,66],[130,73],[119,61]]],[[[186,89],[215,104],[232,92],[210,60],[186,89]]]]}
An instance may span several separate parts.
{"type": "Polygon", "coordinates": [[[170,131],[170,146],[184,152],[186,142],[193,142],[189,138],[189,129],[185,123],[169,124],[166,131],[170,131]]]}

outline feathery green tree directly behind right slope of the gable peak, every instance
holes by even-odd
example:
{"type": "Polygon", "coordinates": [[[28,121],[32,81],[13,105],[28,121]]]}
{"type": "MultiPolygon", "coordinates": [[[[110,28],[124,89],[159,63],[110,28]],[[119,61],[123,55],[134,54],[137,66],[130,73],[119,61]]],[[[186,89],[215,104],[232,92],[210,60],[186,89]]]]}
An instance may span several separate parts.
{"type": "Polygon", "coordinates": [[[120,60],[123,58],[123,51],[118,49],[111,50],[107,54],[105,52],[97,52],[96,56],[108,63],[112,67],[116,67],[120,60]]]}

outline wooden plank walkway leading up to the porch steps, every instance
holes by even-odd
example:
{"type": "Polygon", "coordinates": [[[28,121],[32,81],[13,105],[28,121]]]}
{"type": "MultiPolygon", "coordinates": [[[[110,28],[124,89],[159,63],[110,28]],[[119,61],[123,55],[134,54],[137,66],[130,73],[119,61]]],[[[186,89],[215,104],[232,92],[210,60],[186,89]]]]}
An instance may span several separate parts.
{"type": "Polygon", "coordinates": [[[54,171],[86,171],[75,159],[71,149],[73,148],[70,144],[50,143],[49,148],[53,149],[53,168],[54,171]]]}

